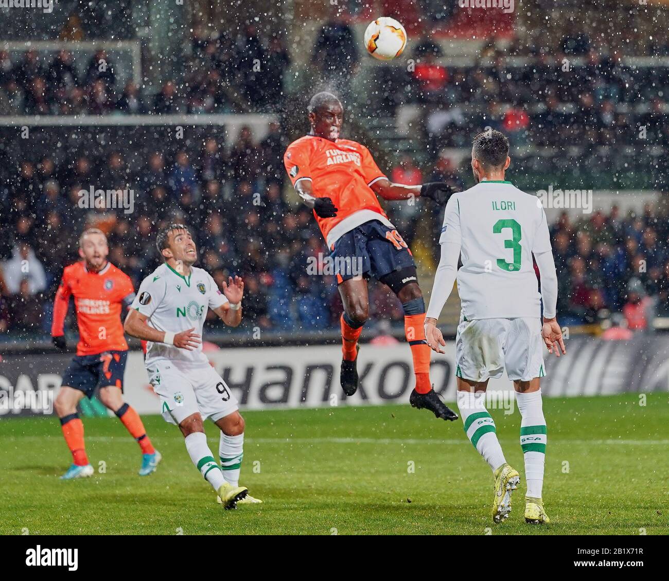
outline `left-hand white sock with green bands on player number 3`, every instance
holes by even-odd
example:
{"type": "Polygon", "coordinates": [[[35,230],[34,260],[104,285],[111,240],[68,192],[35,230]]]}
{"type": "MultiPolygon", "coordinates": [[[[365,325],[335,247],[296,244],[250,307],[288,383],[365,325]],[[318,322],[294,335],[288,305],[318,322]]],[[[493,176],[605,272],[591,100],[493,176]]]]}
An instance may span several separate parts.
{"type": "Polygon", "coordinates": [[[488,463],[492,471],[496,471],[506,463],[502,446],[495,433],[495,422],[486,410],[486,394],[479,392],[458,391],[458,408],[464,422],[464,431],[474,448],[488,463]]]}

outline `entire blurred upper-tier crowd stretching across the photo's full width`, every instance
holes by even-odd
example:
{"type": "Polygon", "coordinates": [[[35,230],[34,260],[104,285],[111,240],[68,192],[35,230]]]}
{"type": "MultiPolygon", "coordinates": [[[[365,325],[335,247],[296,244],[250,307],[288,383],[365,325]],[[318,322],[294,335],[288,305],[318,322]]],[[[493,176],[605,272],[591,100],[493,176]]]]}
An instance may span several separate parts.
{"type": "Polygon", "coordinates": [[[324,22],[299,70],[290,68],[285,42],[254,24],[235,35],[197,28],[185,76],[159,90],[118,86],[104,50],[85,56],[86,66],[75,66],[66,50],[0,51],[0,115],[272,112],[294,126],[304,95],[327,88],[361,127],[377,117],[398,138],[400,112],[409,112],[411,149],[421,163],[435,163],[445,148],[470,147],[482,127],[492,127],[514,147],[516,169],[527,177],[518,185],[564,181],[587,167],[606,189],[669,189],[669,66],[662,63],[632,64],[580,35],[550,52],[513,40],[502,53],[490,43],[472,66],[452,66],[423,37],[407,49],[412,66],[361,67],[368,57],[343,15],[324,22]]]}

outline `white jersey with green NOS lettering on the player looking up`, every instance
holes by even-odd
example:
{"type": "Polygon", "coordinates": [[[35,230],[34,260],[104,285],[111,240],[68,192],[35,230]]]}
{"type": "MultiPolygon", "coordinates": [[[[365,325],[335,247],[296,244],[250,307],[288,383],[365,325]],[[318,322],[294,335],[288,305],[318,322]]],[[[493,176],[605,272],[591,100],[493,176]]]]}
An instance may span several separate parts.
{"type": "MultiPolygon", "coordinates": [[[[153,329],[179,333],[194,327],[194,332],[202,337],[207,311],[227,302],[206,270],[193,266],[190,276],[183,276],[165,263],[142,280],[132,309],[149,317],[147,323],[153,329]]],[[[209,365],[201,343],[189,351],[149,341],[145,365],[148,367],[161,360],[183,365],[209,365]]]]}

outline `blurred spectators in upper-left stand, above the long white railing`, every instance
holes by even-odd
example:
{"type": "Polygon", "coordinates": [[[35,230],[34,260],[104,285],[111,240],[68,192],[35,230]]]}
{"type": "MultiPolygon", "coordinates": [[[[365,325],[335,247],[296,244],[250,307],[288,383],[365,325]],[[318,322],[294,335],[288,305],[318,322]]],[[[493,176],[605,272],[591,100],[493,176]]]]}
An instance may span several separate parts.
{"type": "Polygon", "coordinates": [[[151,94],[129,81],[118,86],[105,50],[80,72],[72,52],[0,50],[0,115],[197,114],[271,109],[283,94],[290,56],[280,37],[247,26],[235,37],[193,35],[185,78],[151,94]]]}

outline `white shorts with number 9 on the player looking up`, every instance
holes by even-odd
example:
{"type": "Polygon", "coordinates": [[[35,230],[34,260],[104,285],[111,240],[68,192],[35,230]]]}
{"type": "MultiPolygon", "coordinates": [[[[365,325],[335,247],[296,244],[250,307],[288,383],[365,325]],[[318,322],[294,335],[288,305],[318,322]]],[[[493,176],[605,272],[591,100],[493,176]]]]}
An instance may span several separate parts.
{"type": "Polygon", "coordinates": [[[211,365],[176,367],[173,361],[147,365],[149,382],[161,398],[161,414],[171,424],[181,424],[199,413],[216,422],[239,409],[223,378],[211,365]]]}

